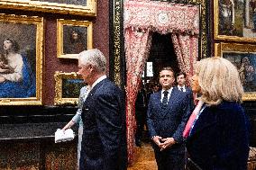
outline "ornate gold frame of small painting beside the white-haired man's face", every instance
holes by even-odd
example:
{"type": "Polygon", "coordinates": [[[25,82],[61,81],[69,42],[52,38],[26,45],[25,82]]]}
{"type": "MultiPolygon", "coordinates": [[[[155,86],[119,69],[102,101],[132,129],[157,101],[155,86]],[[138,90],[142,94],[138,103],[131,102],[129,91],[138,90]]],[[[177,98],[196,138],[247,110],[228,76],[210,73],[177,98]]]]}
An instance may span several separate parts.
{"type": "MultiPolygon", "coordinates": [[[[54,97],[54,105],[64,105],[64,104],[78,104],[78,97],[63,97],[63,80],[82,80],[81,76],[78,76],[77,73],[71,72],[71,73],[63,73],[56,71],[54,74],[55,79],[55,97],[54,97]]],[[[78,95],[79,95],[79,89],[78,95]]]]}

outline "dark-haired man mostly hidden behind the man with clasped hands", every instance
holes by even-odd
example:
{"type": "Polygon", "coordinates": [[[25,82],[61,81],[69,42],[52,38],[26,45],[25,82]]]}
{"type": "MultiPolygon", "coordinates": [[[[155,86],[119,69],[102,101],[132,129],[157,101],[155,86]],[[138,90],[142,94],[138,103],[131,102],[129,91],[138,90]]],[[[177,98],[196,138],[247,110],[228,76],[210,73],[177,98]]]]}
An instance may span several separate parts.
{"type": "Polygon", "coordinates": [[[194,98],[193,98],[193,92],[190,87],[186,85],[186,73],[184,72],[179,72],[177,74],[176,80],[177,80],[177,87],[178,90],[184,93],[187,93],[187,97],[190,100],[190,105],[191,105],[191,112],[193,112],[194,109],[194,98]]]}

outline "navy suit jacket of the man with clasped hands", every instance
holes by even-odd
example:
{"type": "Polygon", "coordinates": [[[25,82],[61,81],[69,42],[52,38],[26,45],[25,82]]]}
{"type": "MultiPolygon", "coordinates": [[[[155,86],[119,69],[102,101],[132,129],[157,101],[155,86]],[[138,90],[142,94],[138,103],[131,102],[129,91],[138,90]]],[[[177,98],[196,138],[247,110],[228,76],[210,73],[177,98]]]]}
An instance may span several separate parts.
{"type": "Polygon", "coordinates": [[[151,94],[147,112],[147,123],[150,137],[160,136],[162,138],[172,137],[178,143],[171,149],[178,151],[183,142],[182,133],[190,116],[190,105],[187,94],[178,91],[177,87],[172,89],[166,109],[161,107],[161,91],[151,94]]]}

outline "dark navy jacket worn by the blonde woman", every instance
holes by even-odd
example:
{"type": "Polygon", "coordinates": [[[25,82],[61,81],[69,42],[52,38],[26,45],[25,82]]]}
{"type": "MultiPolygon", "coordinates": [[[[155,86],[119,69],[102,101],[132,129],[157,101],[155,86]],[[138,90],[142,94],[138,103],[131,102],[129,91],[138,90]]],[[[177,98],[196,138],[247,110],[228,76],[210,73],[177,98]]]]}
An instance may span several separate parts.
{"type": "Polygon", "coordinates": [[[247,169],[248,121],[241,105],[223,102],[206,107],[186,146],[190,158],[204,170],[247,169]]]}

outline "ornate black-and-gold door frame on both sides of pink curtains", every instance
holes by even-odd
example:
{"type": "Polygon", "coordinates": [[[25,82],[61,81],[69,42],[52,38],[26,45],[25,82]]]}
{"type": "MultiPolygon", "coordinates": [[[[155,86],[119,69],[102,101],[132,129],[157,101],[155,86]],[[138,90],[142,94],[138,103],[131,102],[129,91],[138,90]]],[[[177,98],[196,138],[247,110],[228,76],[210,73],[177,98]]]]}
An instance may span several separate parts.
{"type": "MultiPolygon", "coordinates": [[[[110,58],[110,78],[116,85],[124,87],[125,85],[125,57],[124,57],[124,39],[123,39],[123,2],[125,0],[114,0],[109,2],[109,21],[110,21],[110,40],[109,40],[109,58],[110,58]]],[[[201,5],[201,53],[199,58],[207,58],[211,54],[211,37],[209,37],[210,26],[210,1],[206,0],[181,0],[179,3],[200,4],[201,5]]]]}

